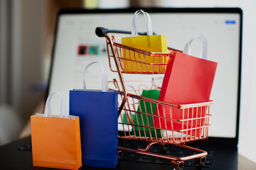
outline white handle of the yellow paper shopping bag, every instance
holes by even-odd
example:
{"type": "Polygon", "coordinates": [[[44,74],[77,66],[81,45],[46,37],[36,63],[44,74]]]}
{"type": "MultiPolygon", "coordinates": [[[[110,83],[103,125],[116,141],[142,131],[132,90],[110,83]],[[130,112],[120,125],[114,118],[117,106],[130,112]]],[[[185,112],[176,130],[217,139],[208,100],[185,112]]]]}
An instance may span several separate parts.
{"type": "Polygon", "coordinates": [[[141,10],[136,11],[132,18],[132,36],[133,37],[138,36],[138,32],[137,32],[137,28],[136,28],[136,18],[139,15],[139,13],[144,14],[144,18],[145,18],[145,22],[146,22],[146,35],[153,35],[151,17],[149,16],[149,13],[146,13],[141,9],[141,10]]]}

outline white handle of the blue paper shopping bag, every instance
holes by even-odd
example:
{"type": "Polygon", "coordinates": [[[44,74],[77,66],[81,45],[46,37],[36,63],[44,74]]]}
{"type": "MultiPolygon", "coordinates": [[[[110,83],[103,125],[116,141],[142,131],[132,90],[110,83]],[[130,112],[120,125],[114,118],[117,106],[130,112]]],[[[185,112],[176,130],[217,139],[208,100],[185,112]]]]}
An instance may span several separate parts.
{"type": "Polygon", "coordinates": [[[92,64],[100,64],[100,67],[102,69],[102,91],[107,92],[107,70],[100,62],[91,62],[85,67],[84,73],[83,73],[83,89],[86,90],[85,86],[85,72],[92,64]]]}

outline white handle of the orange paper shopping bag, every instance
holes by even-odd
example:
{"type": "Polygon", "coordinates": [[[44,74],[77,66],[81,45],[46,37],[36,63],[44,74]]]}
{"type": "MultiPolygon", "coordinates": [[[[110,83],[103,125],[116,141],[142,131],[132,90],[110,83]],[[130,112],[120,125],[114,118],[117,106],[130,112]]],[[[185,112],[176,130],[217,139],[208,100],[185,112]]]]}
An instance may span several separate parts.
{"type": "Polygon", "coordinates": [[[67,108],[67,100],[66,100],[66,97],[65,97],[65,94],[60,92],[60,91],[54,91],[52,94],[50,94],[47,98],[47,101],[46,101],[46,108],[45,108],[45,111],[44,111],[44,114],[43,116],[44,117],[51,117],[53,114],[52,114],[52,111],[51,111],[51,106],[50,106],[50,101],[51,99],[53,98],[53,95],[54,94],[59,94],[61,96],[61,102],[60,102],[60,118],[63,118],[63,113],[64,113],[64,118],[68,118],[68,108],[67,108]]]}

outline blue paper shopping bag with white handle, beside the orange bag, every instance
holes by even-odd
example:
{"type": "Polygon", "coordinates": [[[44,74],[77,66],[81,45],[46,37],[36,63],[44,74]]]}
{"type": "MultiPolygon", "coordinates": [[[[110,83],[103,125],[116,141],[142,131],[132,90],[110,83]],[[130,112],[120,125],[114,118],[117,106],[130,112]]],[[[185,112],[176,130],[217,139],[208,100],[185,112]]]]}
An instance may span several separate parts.
{"type": "MultiPolygon", "coordinates": [[[[92,62],[92,64],[100,64],[92,62]]],[[[107,74],[102,66],[102,91],[70,91],[70,115],[80,118],[82,165],[114,169],[118,163],[117,91],[107,89],[107,74]]]]}

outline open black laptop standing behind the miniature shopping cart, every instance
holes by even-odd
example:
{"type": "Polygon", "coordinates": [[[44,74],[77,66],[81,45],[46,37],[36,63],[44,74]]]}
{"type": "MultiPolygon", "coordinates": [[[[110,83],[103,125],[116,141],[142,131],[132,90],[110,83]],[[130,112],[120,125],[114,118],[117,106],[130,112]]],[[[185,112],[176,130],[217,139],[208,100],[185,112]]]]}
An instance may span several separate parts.
{"type": "MultiPolygon", "coordinates": [[[[242,51],[242,10],[240,8],[142,8],[151,16],[154,33],[166,35],[167,45],[183,50],[193,35],[208,39],[208,60],[218,62],[210,99],[209,137],[186,145],[208,151],[201,169],[238,169],[238,126],[240,112],[240,81],[242,51]]],[[[63,9],[55,28],[47,96],[53,91],[69,94],[70,89],[82,89],[82,71],[90,62],[101,62],[107,69],[108,80],[118,79],[111,72],[105,38],[95,35],[95,28],[131,30],[132,16],[137,8],[125,9],[63,9]]],[[[145,32],[143,17],[137,18],[137,30],[145,32]]],[[[124,37],[126,34],[111,35],[124,37]]],[[[198,56],[201,45],[192,45],[192,55],[198,56]]],[[[97,69],[87,74],[87,89],[100,89],[97,69]]],[[[125,74],[124,79],[158,79],[163,74],[125,74]],[[134,78],[137,76],[136,78],[134,78]]],[[[58,101],[52,103],[58,113],[58,101]],[[56,103],[56,104],[55,104],[56,103]]],[[[121,130],[121,129],[119,129],[121,130]]],[[[141,141],[119,140],[119,145],[134,147],[141,141]]],[[[157,147],[154,148],[157,152],[157,147]]],[[[183,155],[185,151],[168,147],[183,155]]],[[[26,148],[25,148],[26,150],[26,148]]],[[[29,160],[32,162],[32,160],[29,160]]],[[[124,152],[117,169],[171,169],[170,161],[124,152]]],[[[32,169],[31,167],[29,169],[32,169]]],[[[87,169],[87,167],[83,167],[87,169]]],[[[185,162],[184,169],[196,169],[193,162],[185,162]]]]}

